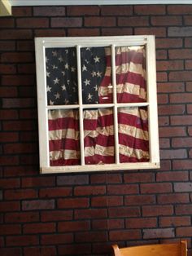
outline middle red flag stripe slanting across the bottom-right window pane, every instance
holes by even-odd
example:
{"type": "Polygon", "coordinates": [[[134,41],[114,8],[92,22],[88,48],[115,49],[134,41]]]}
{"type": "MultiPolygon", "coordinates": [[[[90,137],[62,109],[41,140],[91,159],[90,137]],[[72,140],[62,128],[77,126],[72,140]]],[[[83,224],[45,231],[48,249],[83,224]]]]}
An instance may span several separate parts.
{"type": "Polygon", "coordinates": [[[149,152],[149,141],[144,139],[137,139],[130,135],[119,133],[119,143],[128,146],[129,148],[142,149],[149,152]]]}

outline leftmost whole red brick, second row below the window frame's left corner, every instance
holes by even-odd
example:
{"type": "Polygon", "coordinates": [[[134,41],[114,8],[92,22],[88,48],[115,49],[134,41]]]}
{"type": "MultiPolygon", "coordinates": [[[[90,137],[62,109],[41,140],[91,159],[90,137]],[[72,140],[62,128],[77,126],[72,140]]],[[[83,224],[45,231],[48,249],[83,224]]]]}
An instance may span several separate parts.
{"type": "Polygon", "coordinates": [[[22,200],[29,198],[37,198],[37,191],[33,189],[15,189],[15,190],[7,190],[5,192],[5,199],[7,200],[22,200]]]}

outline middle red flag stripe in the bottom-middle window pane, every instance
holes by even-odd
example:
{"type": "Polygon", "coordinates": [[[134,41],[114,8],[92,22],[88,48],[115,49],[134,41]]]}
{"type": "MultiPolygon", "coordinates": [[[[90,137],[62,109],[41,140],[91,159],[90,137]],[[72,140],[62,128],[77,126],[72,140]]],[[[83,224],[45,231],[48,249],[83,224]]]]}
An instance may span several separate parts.
{"type": "Polygon", "coordinates": [[[96,138],[92,138],[89,136],[86,136],[84,139],[85,147],[96,147],[96,145],[100,145],[103,147],[112,147],[114,146],[114,136],[104,136],[104,135],[98,135],[96,138]]]}

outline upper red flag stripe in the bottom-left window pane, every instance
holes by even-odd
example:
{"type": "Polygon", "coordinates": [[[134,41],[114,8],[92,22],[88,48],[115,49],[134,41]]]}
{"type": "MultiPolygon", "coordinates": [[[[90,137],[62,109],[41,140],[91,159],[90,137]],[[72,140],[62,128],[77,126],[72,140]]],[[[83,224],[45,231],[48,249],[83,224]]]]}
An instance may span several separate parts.
{"type": "Polygon", "coordinates": [[[79,121],[74,119],[73,117],[63,117],[49,120],[49,130],[60,130],[69,128],[79,130],[79,121]]]}

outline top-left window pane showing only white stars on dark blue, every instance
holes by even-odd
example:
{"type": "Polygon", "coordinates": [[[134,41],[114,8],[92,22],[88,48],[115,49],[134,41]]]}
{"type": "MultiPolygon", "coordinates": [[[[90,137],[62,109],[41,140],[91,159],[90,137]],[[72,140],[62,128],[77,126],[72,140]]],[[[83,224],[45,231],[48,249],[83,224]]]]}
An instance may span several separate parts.
{"type": "Polygon", "coordinates": [[[78,103],[76,48],[46,48],[48,105],[78,103]]]}

